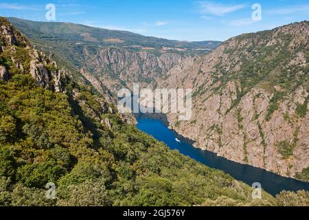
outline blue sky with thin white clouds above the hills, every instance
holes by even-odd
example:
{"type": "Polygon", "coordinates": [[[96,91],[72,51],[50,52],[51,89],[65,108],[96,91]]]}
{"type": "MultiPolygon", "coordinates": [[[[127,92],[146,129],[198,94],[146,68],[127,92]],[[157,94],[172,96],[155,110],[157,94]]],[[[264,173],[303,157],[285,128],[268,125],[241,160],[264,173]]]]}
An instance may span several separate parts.
{"type": "Polygon", "coordinates": [[[56,5],[56,21],[181,41],[225,41],[309,20],[308,0],[1,0],[0,15],[45,21],[47,3],[56,5]],[[260,21],[252,19],[254,3],[261,5],[260,21]]]}

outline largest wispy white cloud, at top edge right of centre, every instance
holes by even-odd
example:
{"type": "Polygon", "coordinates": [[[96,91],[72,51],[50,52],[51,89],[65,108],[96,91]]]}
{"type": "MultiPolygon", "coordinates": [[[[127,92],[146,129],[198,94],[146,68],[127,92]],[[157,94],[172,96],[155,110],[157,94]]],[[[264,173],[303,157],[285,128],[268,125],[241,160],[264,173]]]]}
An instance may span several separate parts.
{"type": "Polygon", "coordinates": [[[223,5],[221,3],[212,3],[209,1],[200,1],[199,2],[201,7],[201,13],[202,14],[213,14],[216,16],[223,16],[225,14],[229,14],[231,12],[236,12],[237,10],[240,10],[246,5],[240,4],[240,5],[223,5]]]}

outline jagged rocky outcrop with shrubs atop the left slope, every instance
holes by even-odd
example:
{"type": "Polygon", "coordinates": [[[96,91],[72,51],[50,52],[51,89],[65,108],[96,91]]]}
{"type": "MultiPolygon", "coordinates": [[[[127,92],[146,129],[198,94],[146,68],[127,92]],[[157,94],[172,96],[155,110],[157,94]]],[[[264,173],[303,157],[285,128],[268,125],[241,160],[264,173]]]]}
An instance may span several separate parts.
{"type": "Polygon", "coordinates": [[[43,52],[38,52],[25,37],[0,18],[0,78],[9,80],[14,74],[29,72],[36,85],[54,91],[64,91],[67,74],[43,52]]]}

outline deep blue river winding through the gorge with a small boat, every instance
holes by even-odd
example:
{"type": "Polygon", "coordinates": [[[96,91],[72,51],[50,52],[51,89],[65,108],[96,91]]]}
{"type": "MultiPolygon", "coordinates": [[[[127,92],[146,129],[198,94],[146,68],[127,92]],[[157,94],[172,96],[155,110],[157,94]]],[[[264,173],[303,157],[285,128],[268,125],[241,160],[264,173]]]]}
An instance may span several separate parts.
{"type": "Polygon", "coordinates": [[[243,181],[250,186],[255,182],[259,182],[262,184],[262,188],[273,196],[277,195],[282,190],[309,191],[309,183],[298,181],[293,178],[282,177],[262,168],[255,168],[253,166],[232,162],[224,157],[217,156],[215,153],[195,148],[192,144],[187,144],[187,141],[185,141],[183,137],[168,129],[168,126],[158,119],[141,117],[137,118],[137,122],[137,128],[139,130],[164,142],[171,149],[177,149],[183,155],[189,156],[206,166],[229,173],[229,175],[235,179],[243,181]],[[176,138],[181,140],[181,142],[177,142],[176,138]]]}

